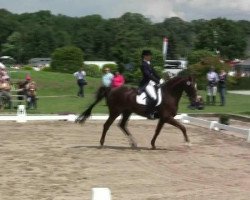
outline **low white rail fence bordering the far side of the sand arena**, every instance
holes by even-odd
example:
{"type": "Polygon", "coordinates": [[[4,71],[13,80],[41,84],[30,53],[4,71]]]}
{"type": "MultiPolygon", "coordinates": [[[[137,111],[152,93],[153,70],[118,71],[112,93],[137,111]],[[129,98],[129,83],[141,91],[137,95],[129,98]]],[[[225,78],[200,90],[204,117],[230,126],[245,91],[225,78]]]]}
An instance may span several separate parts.
{"type": "MultiPolygon", "coordinates": [[[[17,115],[2,115],[0,116],[0,121],[16,121],[16,122],[27,122],[27,121],[71,121],[74,122],[77,118],[77,115],[69,114],[69,115],[27,115],[25,108],[22,107],[18,109],[17,115]]],[[[119,120],[121,116],[117,118],[119,120]]],[[[90,120],[106,120],[108,119],[108,115],[92,115],[89,118],[90,120]]],[[[131,120],[145,120],[145,117],[141,117],[138,115],[131,115],[131,120]]],[[[208,128],[210,130],[219,131],[221,129],[236,132],[242,134],[246,137],[247,141],[250,142],[250,128],[244,129],[239,127],[228,126],[224,124],[220,124],[217,121],[208,121],[205,119],[199,119],[195,117],[188,116],[187,114],[179,114],[175,116],[175,119],[180,120],[182,123],[190,123],[192,125],[201,126],[204,128],[208,128]]]]}

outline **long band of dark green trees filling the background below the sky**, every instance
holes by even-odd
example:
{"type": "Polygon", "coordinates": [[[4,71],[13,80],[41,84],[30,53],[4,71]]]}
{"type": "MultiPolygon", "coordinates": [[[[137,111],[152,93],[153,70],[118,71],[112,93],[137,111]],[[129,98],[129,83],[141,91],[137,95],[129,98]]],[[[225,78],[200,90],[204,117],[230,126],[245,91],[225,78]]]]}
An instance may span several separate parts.
{"type": "Polygon", "coordinates": [[[138,81],[143,49],[154,51],[153,64],[162,70],[164,36],[169,39],[167,59],[188,58],[195,64],[215,52],[222,59],[244,58],[250,56],[249,25],[249,21],[224,18],[186,22],[171,17],[153,23],[142,14],[130,12],[103,19],[100,15],[68,17],[50,11],[12,14],[0,9],[0,56],[12,56],[23,64],[34,57],[52,56],[53,70],[72,72],[80,67],[84,52],[84,60],[116,61],[128,80],[138,81]],[[76,64],[70,64],[73,61],[65,55],[66,46],[81,50],[70,56],[76,58],[76,64]],[[58,63],[58,54],[68,63],[58,63]]]}

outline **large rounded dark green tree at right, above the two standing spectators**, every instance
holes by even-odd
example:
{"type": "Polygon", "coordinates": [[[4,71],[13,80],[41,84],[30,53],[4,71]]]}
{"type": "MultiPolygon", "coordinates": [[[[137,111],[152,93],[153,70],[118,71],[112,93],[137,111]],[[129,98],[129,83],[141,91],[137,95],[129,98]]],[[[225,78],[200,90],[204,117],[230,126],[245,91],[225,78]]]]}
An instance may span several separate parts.
{"type": "Polygon", "coordinates": [[[194,23],[197,41],[196,49],[219,51],[226,59],[239,58],[246,49],[246,34],[242,27],[232,20],[217,18],[194,23]]]}

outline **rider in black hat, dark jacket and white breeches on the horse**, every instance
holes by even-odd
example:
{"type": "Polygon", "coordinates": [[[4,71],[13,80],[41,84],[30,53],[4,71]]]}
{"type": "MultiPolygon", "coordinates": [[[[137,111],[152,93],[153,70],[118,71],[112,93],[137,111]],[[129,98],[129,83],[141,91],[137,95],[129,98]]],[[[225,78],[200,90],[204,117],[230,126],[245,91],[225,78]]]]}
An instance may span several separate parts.
{"type": "MultiPolygon", "coordinates": [[[[151,65],[152,52],[150,50],[142,51],[142,64],[141,64],[141,72],[142,72],[142,80],[140,82],[140,89],[145,89],[150,81],[153,81],[155,85],[160,83],[160,77],[155,72],[153,66],[151,65]]],[[[146,115],[148,119],[154,119],[155,114],[155,105],[157,104],[157,92],[156,88],[152,87],[152,94],[148,95],[148,105],[146,108],[146,115]]],[[[146,91],[147,93],[147,91],[146,91]]]]}

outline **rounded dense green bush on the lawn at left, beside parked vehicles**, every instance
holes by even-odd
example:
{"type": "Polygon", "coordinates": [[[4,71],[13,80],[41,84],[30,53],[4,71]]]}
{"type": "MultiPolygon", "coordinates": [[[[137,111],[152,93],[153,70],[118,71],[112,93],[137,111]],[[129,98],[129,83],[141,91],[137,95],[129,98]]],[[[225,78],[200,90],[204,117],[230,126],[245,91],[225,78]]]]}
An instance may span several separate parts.
{"type": "Polygon", "coordinates": [[[83,52],[75,46],[57,48],[52,54],[51,69],[73,73],[83,66],[83,52]]]}

